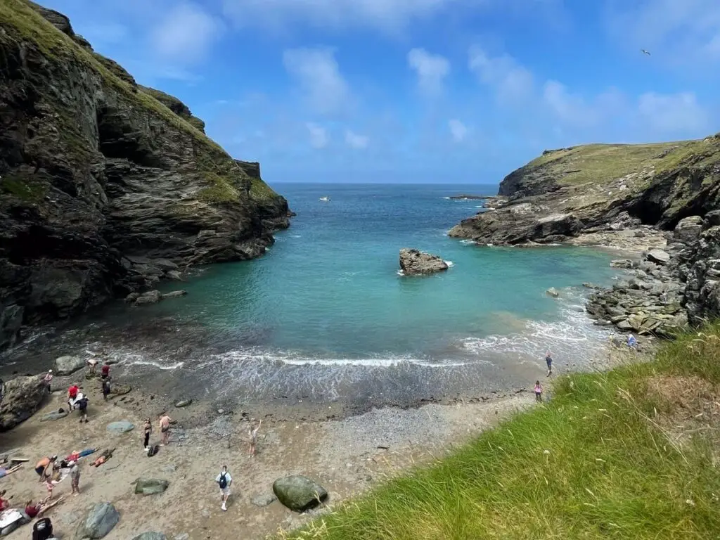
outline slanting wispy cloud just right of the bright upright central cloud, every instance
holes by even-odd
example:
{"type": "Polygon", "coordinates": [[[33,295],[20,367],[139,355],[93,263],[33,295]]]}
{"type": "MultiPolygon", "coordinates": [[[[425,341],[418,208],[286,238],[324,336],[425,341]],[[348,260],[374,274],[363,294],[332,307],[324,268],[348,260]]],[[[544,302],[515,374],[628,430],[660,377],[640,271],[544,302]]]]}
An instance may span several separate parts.
{"type": "Polygon", "coordinates": [[[468,67],[482,84],[492,86],[498,99],[506,104],[523,101],[534,91],[531,71],[508,54],[492,57],[474,46],[469,50],[468,67]]]}

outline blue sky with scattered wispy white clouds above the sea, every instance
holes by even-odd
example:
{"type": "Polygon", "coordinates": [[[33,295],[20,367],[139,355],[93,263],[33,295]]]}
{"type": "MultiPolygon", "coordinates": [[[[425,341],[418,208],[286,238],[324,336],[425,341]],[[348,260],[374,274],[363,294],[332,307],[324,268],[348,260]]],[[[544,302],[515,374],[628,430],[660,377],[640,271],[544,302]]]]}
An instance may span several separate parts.
{"type": "Polygon", "coordinates": [[[495,183],[720,130],[717,0],[43,3],[270,183],[495,183]]]}

